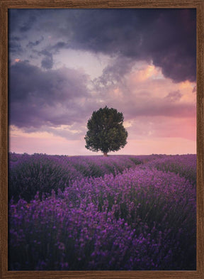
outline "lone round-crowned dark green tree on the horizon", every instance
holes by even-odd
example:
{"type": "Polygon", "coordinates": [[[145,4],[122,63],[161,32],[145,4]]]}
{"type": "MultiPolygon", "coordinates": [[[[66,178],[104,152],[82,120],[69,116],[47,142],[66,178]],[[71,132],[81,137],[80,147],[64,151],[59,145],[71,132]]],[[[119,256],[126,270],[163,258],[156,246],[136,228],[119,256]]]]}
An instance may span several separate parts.
{"type": "Polygon", "coordinates": [[[86,148],[91,151],[102,151],[107,156],[110,151],[118,151],[127,143],[128,131],[123,126],[124,117],[117,109],[94,111],[87,123],[86,148]]]}

